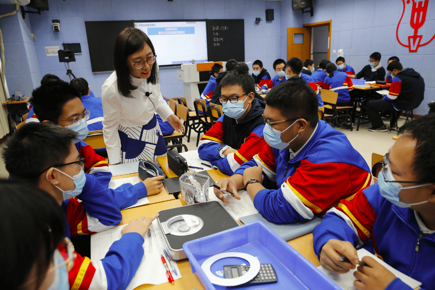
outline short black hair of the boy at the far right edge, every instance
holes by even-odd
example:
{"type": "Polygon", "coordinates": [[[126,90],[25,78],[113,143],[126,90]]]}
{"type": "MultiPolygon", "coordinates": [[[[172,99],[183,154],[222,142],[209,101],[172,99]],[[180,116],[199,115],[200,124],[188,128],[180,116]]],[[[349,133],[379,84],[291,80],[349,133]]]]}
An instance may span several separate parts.
{"type": "Polygon", "coordinates": [[[435,183],[435,114],[421,116],[405,123],[400,127],[399,134],[405,132],[410,133],[417,141],[412,168],[419,181],[435,183]]]}

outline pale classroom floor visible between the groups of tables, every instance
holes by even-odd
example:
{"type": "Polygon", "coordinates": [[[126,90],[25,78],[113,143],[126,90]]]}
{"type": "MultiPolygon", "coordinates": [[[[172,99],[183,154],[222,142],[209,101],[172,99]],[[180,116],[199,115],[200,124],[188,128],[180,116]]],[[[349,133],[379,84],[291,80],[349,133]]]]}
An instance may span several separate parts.
{"type": "MultiPolygon", "coordinates": [[[[387,124],[387,121],[384,121],[387,124]]],[[[403,125],[405,122],[405,119],[401,117],[398,120],[399,127],[403,125]]],[[[395,131],[391,131],[391,133],[388,132],[370,132],[368,128],[370,127],[370,123],[360,125],[359,131],[355,131],[356,126],[354,127],[354,130],[351,132],[349,129],[343,129],[336,127],[339,131],[343,132],[347,138],[350,141],[350,144],[358,150],[358,152],[362,155],[362,157],[365,159],[369,167],[371,167],[372,164],[372,153],[379,153],[384,155],[387,153],[389,148],[394,144],[394,140],[392,139],[393,136],[397,134],[395,131]]],[[[186,144],[187,148],[189,150],[196,150],[196,133],[192,132],[191,135],[191,142],[187,142],[187,138],[185,137],[183,140],[183,143],[186,144]]],[[[4,144],[4,143],[3,143],[4,144]]],[[[2,151],[3,144],[0,145],[0,151],[2,151]]],[[[6,168],[4,166],[3,159],[0,158],[0,178],[7,178],[8,173],[6,171],[6,168]]]]}

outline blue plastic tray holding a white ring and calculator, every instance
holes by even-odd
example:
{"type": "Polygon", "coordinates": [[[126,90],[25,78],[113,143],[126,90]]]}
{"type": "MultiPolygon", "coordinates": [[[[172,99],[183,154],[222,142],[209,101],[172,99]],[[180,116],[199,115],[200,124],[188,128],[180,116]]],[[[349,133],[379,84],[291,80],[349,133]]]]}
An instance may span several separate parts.
{"type": "MultiPolygon", "coordinates": [[[[272,264],[278,282],[243,289],[303,289],[341,290],[337,284],[320,272],[310,261],[298,253],[263,222],[256,221],[184,243],[183,250],[189,258],[192,272],[206,290],[226,290],[212,284],[201,268],[211,256],[223,252],[242,252],[256,256],[260,264],[272,264]]],[[[223,278],[224,265],[245,264],[240,258],[226,258],[213,263],[211,272],[223,278]]]]}

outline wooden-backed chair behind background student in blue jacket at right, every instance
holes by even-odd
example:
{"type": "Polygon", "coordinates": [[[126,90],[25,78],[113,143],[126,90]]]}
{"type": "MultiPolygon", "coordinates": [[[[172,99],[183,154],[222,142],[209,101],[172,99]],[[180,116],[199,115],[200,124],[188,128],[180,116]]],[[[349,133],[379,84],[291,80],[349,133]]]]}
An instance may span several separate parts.
{"type": "MultiPolygon", "coordinates": [[[[338,124],[339,117],[345,117],[346,120],[351,119],[351,113],[353,106],[337,106],[338,93],[330,90],[320,89],[320,97],[322,98],[324,109],[332,110],[332,114],[324,114],[325,120],[330,120],[329,123],[334,127],[338,124]]],[[[351,122],[350,131],[353,130],[353,124],[351,122]]]]}

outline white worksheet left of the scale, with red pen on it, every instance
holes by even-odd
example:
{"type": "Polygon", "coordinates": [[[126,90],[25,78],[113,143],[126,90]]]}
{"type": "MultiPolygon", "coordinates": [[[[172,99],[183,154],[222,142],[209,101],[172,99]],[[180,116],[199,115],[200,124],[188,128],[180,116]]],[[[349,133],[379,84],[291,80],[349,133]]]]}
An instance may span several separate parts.
{"type": "MultiPolygon", "coordinates": [[[[125,226],[126,225],[119,226],[104,232],[98,232],[93,234],[91,236],[91,260],[96,261],[103,259],[106,253],[109,251],[112,243],[121,238],[121,231],[125,226]]],[[[163,237],[161,236],[163,233],[158,230],[157,220],[154,220],[152,222],[152,225],[150,227],[150,233],[150,237],[145,234],[144,257],[142,258],[142,262],[139,265],[138,271],[136,272],[135,276],[133,277],[126,290],[133,290],[143,284],[158,285],[168,283],[166,269],[163,266],[160,257],[160,255],[165,256],[163,253],[163,237]]],[[[177,263],[175,261],[172,262],[172,265],[174,265],[175,270],[178,274],[175,275],[175,273],[172,271],[168,259],[166,259],[166,262],[168,263],[169,270],[171,270],[171,274],[174,280],[180,279],[181,274],[180,270],[178,269],[177,263]]]]}

